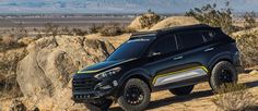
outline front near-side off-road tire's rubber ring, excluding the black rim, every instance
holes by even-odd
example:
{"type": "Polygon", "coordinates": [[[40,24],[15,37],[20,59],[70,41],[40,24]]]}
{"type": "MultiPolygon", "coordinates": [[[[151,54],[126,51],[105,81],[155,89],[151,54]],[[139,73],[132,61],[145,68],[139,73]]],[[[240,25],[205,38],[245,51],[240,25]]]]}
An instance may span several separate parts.
{"type": "MultiPolygon", "coordinates": [[[[129,91],[130,92],[130,91],[129,91]]],[[[150,103],[150,99],[151,99],[151,92],[150,92],[150,88],[146,85],[146,83],[144,83],[143,81],[139,79],[139,78],[130,78],[126,84],[125,87],[122,89],[122,91],[120,92],[120,96],[118,97],[118,104],[125,110],[125,111],[142,111],[144,110],[148,104],[150,103]],[[130,90],[130,88],[139,88],[139,90],[141,90],[142,96],[141,96],[141,101],[137,104],[132,104],[130,101],[128,101],[127,98],[129,98],[130,96],[128,96],[128,91],[130,90]],[[130,103],[129,103],[130,102],[130,103]]]]}

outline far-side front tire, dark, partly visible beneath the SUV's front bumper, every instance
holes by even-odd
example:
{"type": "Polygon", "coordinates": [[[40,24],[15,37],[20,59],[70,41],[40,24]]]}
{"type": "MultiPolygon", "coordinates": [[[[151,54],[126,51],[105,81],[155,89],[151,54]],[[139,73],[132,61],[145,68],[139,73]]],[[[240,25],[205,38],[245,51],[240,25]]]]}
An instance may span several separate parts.
{"type": "Polygon", "coordinates": [[[108,108],[112,106],[112,103],[113,103],[113,100],[104,99],[101,101],[87,102],[84,104],[90,111],[107,111],[108,108]]]}

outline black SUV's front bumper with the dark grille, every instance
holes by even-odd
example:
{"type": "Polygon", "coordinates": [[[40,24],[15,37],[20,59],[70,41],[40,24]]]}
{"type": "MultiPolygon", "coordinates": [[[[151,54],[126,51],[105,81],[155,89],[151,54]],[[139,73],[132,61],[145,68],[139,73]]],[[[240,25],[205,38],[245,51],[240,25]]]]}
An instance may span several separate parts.
{"type": "Polygon", "coordinates": [[[112,98],[117,85],[115,79],[98,81],[94,77],[73,77],[72,100],[81,103],[112,98]]]}

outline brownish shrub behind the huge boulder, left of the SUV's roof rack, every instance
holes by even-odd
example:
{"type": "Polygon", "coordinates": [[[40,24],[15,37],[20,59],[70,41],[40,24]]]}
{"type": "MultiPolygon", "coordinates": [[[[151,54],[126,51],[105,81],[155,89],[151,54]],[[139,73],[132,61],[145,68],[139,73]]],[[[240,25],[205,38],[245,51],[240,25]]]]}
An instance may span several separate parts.
{"type": "Polygon", "coordinates": [[[117,36],[121,35],[124,30],[124,27],[121,27],[119,24],[109,24],[104,26],[99,33],[102,36],[117,36]]]}

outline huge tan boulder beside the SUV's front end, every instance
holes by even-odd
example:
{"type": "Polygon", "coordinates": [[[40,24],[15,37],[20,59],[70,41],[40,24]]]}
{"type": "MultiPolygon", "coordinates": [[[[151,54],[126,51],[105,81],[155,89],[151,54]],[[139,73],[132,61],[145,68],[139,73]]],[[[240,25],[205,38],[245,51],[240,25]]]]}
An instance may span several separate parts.
{"type": "Polygon", "coordinates": [[[28,45],[16,70],[24,102],[40,110],[77,109],[70,99],[72,74],[113,51],[109,42],[85,37],[47,37],[28,45]]]}

